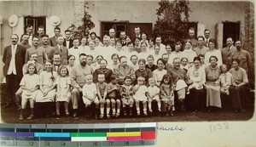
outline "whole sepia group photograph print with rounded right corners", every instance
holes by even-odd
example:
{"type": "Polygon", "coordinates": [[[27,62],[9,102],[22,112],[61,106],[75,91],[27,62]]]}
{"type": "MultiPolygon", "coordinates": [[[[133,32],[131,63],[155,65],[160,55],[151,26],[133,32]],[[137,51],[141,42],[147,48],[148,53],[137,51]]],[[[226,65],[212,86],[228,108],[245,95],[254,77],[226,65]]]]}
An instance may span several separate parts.
{"type": "Polygon", "coordinates": [[[1,1],[1,123],[248,121],[246,1],[1,1]]]}

